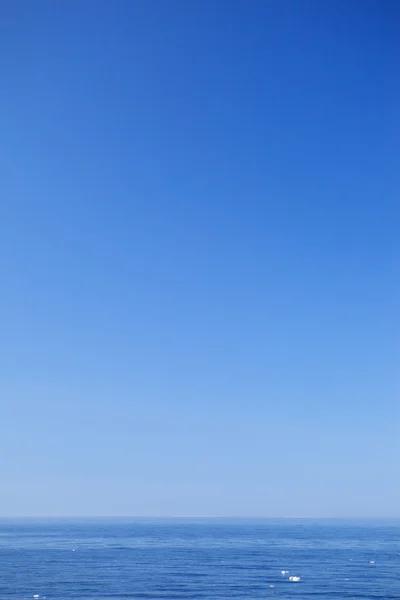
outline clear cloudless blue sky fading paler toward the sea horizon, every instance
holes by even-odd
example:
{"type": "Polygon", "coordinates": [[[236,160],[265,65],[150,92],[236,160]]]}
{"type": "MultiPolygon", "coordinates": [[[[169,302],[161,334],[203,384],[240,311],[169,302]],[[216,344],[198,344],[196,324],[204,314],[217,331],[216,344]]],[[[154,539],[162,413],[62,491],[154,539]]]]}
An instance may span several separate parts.
{"type": "Polygon", "coordinates": [[[0,515],[398,516],[398,4],[1,12],[0,515]]]}

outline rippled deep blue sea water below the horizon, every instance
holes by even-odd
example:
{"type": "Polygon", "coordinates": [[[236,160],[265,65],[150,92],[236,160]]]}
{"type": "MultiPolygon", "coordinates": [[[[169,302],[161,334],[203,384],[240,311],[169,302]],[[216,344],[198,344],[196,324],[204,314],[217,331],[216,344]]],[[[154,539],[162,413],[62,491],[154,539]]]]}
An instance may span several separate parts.
{"type": "Polygon", "coordinates": [[[35,594],[399,600],[400,522],[2,520],[0,598],[35,594]]]}

